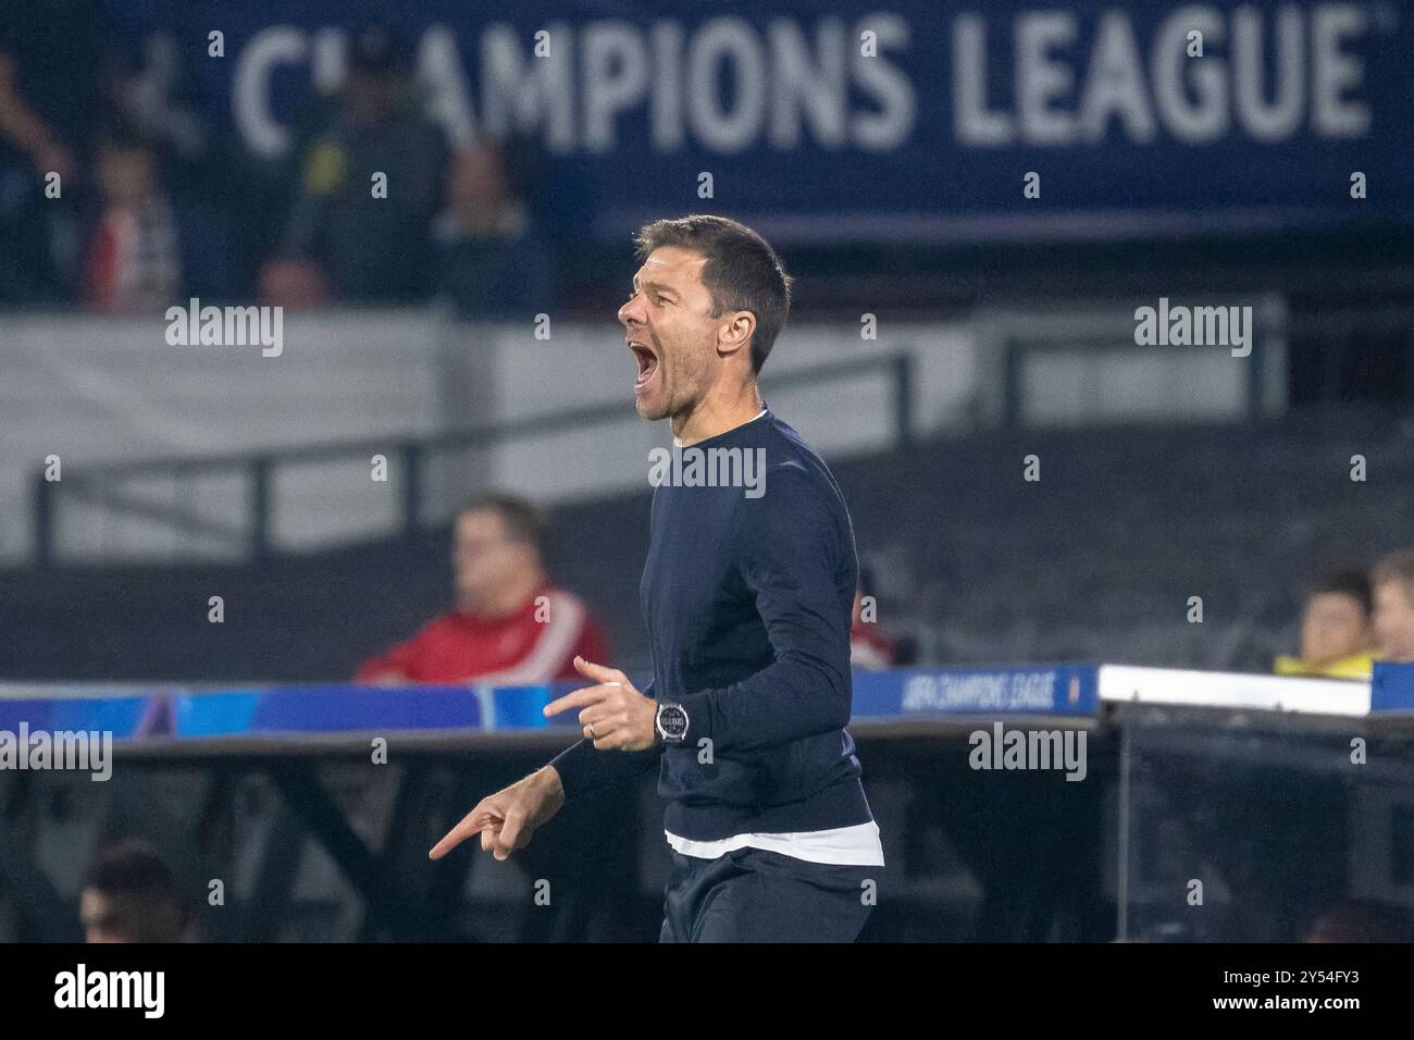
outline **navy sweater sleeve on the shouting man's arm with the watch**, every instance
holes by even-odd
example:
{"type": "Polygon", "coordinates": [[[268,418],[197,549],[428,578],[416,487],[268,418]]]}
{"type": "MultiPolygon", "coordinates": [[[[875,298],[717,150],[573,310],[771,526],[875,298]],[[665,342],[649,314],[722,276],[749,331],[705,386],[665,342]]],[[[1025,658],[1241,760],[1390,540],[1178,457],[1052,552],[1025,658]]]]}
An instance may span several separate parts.
{"type": "Polygon", "coordinates": [[[773,661],[721,689],[682,699],[683,744],[710,737],[715,753],[751,751],[843,729],[850,722],[850,616],[839,577],[854,546],[803,470],[768,474],[742,511],[741,576],[755,593],[773,661]]]}

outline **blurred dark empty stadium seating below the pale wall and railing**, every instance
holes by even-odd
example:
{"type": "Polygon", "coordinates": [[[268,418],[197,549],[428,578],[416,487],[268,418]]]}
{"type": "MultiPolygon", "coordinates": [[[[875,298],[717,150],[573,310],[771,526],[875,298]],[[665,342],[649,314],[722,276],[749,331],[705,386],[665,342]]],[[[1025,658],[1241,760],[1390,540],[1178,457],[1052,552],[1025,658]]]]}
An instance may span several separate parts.
{"type": "MultiPolygon", "coordinates": [[[[1406,543],[1414,439],[1379,413],[990,432],[836,464],[880,620],[921,658],[1264,669],[1324,566],[1406,543]],[[1022,458],[1041,458],[1041,481],[1022,458]],[[1350,480],[1350,457],[1369,480],[1350,480]],[[901,492],[901,488],[906,488],[901,492]],[[1273,519],[1273,518],[1278,519],[1273,519]],[[1189,624],[1188,599],[1203,599],[1189,624]]],[[[648,494],[554,512],[551,562],[643,668],[648,494]]],[[[59,567],[0,580],[0,675],[329,679],[450,597],[445,531],[271,565],[59,567]],[[223,625],[206,621],[223,596],[223,625]],[[83,632],[75,638],[74,632],[83,632]],[[130,648],[144,648],[140,658],[130,648]]]]}

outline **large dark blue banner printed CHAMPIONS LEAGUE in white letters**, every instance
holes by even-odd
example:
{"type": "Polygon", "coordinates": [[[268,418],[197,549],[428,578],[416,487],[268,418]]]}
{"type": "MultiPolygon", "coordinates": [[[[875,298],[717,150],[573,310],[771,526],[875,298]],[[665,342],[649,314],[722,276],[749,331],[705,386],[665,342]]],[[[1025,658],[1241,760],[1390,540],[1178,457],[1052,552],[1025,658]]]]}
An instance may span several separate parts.
{"type": "MultiPolygon", "coordinates": [[[[110,0],[279,160],[365,0],[110,0]],[[219,33],[219,57],[214,33],[219,33]]],[[[785,239],[1200,233],[1414,219],[1414,10],[899,0],[397,8],[428,117],[527,133],[563,231],[720,211],[785,239]]]]}

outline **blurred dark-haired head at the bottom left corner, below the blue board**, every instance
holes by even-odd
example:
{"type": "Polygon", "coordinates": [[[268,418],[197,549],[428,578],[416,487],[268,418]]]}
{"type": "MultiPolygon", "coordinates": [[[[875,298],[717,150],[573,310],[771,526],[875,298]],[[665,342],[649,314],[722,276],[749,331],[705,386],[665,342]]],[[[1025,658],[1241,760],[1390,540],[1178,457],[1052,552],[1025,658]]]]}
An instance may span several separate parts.
{"type": "Polygon", "coordinates": [[[177,876],[146,842],[106,849],[79,894],[88,942],[180,942],[187,910],[177,876]]]}

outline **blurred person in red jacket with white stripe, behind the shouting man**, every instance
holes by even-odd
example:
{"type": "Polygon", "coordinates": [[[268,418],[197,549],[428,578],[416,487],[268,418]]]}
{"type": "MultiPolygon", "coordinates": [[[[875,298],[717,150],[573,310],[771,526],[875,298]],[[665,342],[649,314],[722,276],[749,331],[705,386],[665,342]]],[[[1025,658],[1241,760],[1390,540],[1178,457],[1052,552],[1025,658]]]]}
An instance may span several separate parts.
{"type": "Polygon", "coordinates": [[[457,608],[365,662],[359,682],[518,685],[574,679],[574,657],[608,659],[584,603],[550,584],[544,521],[509,495],[474,499],[457,518],[457,608]]]}

